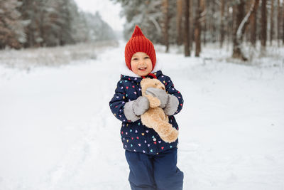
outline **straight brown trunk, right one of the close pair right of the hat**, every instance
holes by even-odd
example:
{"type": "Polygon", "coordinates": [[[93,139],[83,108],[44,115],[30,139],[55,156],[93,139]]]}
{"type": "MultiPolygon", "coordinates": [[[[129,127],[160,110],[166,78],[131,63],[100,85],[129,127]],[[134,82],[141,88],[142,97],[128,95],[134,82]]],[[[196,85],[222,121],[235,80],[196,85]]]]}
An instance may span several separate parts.
{"type": "Polygon", "coordinates": [[[200,1],[197,0],[197,8],[196,8],[196,15],[195,15],[195,57],[200,56],[201,51],[201,26],[200,26],[200,19],[201,19],[201,9],[200,9],[200,1]]]}

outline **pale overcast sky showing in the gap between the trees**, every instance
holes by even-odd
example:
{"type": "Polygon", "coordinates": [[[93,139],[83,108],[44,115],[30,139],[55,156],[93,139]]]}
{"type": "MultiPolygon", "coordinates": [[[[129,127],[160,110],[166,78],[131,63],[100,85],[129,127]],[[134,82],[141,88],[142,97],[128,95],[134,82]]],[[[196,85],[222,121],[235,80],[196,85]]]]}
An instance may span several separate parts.
{"type": "Polygon", "coordinates": [[[121,11],[120,4],[114,4],[109,0],[75,0],[77,5],[83,11],[95,13],[99,11],[102,19],[109,23],[109,26],[115,31],[122,31],[125,19],[121,19],[119,13],[121,11]]]}

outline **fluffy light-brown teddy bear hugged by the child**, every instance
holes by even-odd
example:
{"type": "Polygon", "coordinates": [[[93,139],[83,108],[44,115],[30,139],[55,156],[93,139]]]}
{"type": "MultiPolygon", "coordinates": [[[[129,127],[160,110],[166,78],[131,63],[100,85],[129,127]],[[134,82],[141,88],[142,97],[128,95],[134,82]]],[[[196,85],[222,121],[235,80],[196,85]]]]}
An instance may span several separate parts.
{"type": "Polygon", "coordinates": [[[141,122],[146,127],[153,128],[161,139],[165,142],[175,142],[178,139],[178,130],[176,130],[168,121],[168,115],[165,115],[160,106],[158,97],[146,94],[147,88],[159,88],[165,90],[165,85],[158,79],[143,78],[141,80],[142,96],[147,97],[150,108],[141,115],[141,122]]]}

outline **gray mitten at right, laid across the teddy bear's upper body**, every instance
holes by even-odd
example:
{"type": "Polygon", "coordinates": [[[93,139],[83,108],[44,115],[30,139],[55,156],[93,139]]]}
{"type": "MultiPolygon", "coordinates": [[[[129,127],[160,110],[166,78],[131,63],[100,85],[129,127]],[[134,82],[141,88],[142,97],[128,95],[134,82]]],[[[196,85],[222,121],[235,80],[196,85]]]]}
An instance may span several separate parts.
{"type": "Polygon", "coordinates": [[[163,108],[165,115],[174,115],[178,110],[178,97],[167,94],[165,90],[158,88],[147,88],[146,94],[159,98],[160,107],[163,108]]]}

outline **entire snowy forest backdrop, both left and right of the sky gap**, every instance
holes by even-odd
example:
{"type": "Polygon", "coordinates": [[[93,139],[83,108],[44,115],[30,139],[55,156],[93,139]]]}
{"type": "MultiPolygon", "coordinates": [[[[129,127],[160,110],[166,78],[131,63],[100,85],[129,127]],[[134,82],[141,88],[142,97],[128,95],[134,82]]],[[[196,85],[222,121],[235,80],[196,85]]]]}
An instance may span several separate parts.
{"type": "MultiPolygon", "coordinates": [[[[232,58],[247,60],[244,46],[283,46],[284,1],[280,0],[111,0],[126,18],[124,38],[137,24],[168,52],[183,46],[200,56],[202,46],[232,46],[232,58]]],[[[0,0],[0,49],[64,46],[115,37],[99,13],[80,11],[73,0],[0,0]]],[[[192,53],[192,54],[193,54],[192,53]]]]}

